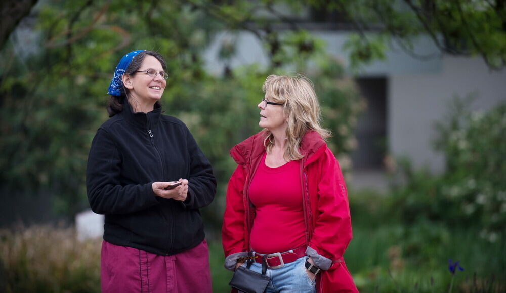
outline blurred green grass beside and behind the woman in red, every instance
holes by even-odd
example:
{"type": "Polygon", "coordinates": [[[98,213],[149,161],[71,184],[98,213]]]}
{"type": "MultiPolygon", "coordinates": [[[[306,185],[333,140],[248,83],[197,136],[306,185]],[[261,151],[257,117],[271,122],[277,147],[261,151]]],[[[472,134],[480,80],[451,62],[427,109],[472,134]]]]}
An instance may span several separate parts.
{"type": "MultiPolygon", "coordinates": [[[[489,242],[476,229],[433,223],[371,226],[354,227],[345,254],[360,292],[447,292],[448,259],[465,268],[455,273],[453,292],[506,291],[504,237],[489,242]]],[[[214,292],[227,292],[232,274],[223,268],[221,244],[209,242],[214,292]]]]}

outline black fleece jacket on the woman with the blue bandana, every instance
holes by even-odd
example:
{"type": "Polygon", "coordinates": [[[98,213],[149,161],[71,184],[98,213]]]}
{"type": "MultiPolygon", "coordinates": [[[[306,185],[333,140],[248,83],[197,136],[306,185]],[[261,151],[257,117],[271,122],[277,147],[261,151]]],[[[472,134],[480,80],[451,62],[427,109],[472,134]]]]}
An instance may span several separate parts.
{"type": "Polygon", "coordinates": [[[174,255],[204,239],[199,208],[213,201],[216,179],[183,122],[126,103],[93,139],[86,187],[92,210],[105,214],[104,240],[174,255]],[[189,181],[184,202],[154,195],[153,182],[180,178],[189,181]]]}

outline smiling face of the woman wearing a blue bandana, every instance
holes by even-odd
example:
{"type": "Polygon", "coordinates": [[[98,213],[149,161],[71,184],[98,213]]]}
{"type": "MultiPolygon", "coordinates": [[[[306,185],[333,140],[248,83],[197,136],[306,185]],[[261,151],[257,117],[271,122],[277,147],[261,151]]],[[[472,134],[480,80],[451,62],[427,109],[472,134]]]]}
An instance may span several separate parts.
{"type": "MultiPolygon", "coordinates": [[[[160,61],[151,55],[146,55],[138,71],[149,69],[163,72],[160,61]]],[[[143,104],[154,104],[161,99],[163,90],[165,90],[165,86],[167,85],[167,81],[163,79],[161,74],[156,74],[155,77],[147,75],[146,72],[125,75],[123,75],[123,84],[129,89],[132,98],[143,104]]]]}

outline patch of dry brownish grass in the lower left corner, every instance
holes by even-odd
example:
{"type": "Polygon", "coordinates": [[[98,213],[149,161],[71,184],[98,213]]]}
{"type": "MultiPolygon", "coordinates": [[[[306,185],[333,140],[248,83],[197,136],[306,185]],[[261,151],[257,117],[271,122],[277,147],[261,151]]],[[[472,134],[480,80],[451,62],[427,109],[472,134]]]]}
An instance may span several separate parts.
{"type": "Polygon", "coordinates": [[[78,241],[71,228],[33,226],[16,231],[0,231],[0,290],[100,292],[101,241],[78,241]]]}

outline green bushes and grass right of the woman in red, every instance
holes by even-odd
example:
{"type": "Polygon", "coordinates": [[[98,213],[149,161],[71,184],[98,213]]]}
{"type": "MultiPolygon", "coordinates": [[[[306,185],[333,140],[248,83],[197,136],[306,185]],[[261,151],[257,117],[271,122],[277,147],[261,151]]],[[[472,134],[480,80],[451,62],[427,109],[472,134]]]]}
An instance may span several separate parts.
{"type": "Polygon", "coordinates": [[[503,197],[506,104],[486,113],[455,99],[437,124],[442,174],[394,165],[386,194],[350,191],[354,239],[347,265],[360,291],[502,292],[506,213],[503,197]],[[465,271],[455,276],[448,259],[465,271]]]}

